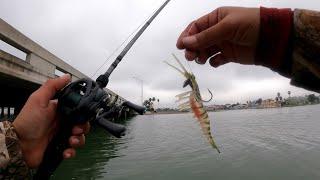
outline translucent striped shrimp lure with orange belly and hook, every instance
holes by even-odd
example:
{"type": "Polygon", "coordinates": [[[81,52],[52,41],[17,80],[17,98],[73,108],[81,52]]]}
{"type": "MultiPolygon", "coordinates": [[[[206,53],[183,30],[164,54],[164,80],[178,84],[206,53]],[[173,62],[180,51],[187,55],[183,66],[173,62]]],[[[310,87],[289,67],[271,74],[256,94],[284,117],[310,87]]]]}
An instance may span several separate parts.
{"type": "Polygon", "coordinates": [[[209,102],[212,100],[212,93],[208,89],[208,91],[211,95],[211,98],[208,101],[202,100],[201,95],[200,95],[199,86],[198,86],[198,83],[196,81],[195,76],[193,75],[193,73],[190,73],[186,70],[186,68],[182,65],[182,63],[179,61],[179,59],[174,54],[172,54],[172,55],[173,55],[174,59],[178,62],[178,64],[182,68],[182,70],[169,64],[166,61],[165,61],[165,63],[168,64],[170,67],[174,68],[175,70],[177,70],[178,72],[180,72],[186,78],[186,81],[183,84],[184,88],[188,85],[191,87],[191,91],[184,92],[184,93],[178,94],[176,96],[176,98],[178,98],[178,100],[176,102],[181,102],[183,100],[188,99],[188,101],[182,102],[179,105],[179,110],[180,111],[190,110],[190,109],[192,110],[194,117],[200,123],[203,134],[206,136],[207,140],[212,145],[212,147],[215,148],[220,153],[220,150],[217,147],[216,143],[214,142],[214,139],[213,139],[211,131],[210,131],[210,120],[209,120],[208,113],[203,106],[203,102],[209,102]]]}

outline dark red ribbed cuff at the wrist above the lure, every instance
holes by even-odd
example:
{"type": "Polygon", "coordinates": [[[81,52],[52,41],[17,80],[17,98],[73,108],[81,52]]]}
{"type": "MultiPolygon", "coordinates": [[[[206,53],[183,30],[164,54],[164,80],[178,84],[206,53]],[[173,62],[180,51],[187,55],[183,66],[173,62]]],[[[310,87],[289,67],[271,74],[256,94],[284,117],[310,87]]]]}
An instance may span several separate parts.
{"type": "Polygon", "coordinates": [[[255,64],[282,71],[291,59],[293,12],[291,9],[260,8],[260,35],[255,64]],[[289,52],[290,51],[290,52],[289,52]]]}

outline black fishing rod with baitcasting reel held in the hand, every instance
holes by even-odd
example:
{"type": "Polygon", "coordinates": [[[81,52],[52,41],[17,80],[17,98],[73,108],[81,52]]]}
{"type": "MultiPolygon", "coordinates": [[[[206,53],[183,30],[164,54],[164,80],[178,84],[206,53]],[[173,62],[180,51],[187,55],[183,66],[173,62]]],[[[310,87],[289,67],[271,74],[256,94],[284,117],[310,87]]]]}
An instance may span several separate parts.
{"type": "Polygon", "coordinates": [[[70,147],[68,139],[75,125],[90,121],[101,126],[111,135],[120,138],[124,136],[126,128],[123,125],[111,122],[111,120],[120,117],[125,110],[133,110],[141,115],[144,114],[144,107],[129,101],[119,103],[118,96],[107,92],[104,88],[109,82],[111,73],[169,1],[165,1],[137,32],[109,69],[100,75],[96,81],[90,78],[82,78],[70,83],[57,93],[54,99],[58,99],[57,111],[61,117],[60,126],[44,153],[43,160],[33,177],[34,180],[50,179],[63,160],[63,151],[70,147]]]}

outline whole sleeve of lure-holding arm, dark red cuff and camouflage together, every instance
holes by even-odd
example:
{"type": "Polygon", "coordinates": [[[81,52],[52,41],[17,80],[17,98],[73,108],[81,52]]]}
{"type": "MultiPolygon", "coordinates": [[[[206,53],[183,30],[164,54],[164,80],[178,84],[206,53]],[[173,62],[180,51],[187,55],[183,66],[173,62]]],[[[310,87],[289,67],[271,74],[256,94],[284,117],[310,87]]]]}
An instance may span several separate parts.
{"type": "Polygon", "coordinates": [[[255,64],[320,92],[320,12],[261,7],[255,64]]]}

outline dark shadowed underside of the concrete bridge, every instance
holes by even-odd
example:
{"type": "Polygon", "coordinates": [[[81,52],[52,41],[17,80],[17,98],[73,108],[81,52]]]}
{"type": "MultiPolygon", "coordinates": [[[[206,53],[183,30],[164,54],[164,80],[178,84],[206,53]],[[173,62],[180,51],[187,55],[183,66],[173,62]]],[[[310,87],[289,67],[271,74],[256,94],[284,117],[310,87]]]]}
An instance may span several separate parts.
{"type": "Polygon", "coordinates": [[[40,85],[0,72],[0,118],[20,112],[30,94],[40,85]]]}

